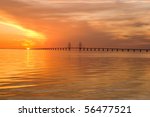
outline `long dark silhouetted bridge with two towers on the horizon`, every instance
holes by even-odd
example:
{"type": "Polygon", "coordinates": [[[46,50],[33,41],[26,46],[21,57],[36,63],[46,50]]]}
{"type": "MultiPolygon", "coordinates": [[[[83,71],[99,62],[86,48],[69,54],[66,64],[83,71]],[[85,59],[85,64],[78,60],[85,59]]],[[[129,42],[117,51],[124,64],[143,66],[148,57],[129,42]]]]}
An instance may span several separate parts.
{"type": "Polygon", "coordinates": [[[106,52],[150,52],[150,49],[133,49],[133,48],[93,48],[93,47],[83,47],[82,43],[79,43],[78,47],[72,47],[71,43],[68,43],[67,47],[54,47],[54,48],[32,48],[40,50],[59,50],[59,51],[106,51],[106,52]]]}

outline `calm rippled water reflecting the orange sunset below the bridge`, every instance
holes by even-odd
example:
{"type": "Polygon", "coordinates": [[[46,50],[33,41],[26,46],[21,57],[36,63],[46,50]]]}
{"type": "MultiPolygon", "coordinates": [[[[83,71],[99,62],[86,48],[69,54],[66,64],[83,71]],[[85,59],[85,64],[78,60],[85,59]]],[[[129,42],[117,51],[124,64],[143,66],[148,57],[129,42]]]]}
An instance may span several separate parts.
{"type": "Polygon", "coordinates": [[[150,53],[0,50],[0,99],[150,99],[150,53]]]}

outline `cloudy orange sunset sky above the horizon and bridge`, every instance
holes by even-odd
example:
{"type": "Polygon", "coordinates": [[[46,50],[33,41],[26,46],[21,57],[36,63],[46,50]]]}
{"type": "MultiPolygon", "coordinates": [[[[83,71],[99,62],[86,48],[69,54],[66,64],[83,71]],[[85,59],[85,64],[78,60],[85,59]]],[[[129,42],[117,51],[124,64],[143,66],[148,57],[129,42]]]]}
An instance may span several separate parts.
{"type": "Polygon", "coordinates": [[[150,0],[0,0],[0,48],[150,48],[150,0]]]}

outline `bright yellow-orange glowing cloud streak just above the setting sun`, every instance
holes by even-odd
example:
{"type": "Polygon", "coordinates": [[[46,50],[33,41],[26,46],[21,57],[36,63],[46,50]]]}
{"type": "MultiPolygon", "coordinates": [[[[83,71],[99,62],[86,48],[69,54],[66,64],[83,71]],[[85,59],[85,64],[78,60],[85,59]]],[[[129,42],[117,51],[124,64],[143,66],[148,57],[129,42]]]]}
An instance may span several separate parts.
{"type": "MultiPolygon", "coordinates": [[[[7,40],[9,41],[8,43],[10,43],[11,41],[15,40],[14,43],[16,43],[16,46],[17,44],[19,44],[24,47],[32,47],[34,46],[36,41],[45,41],[46,36],[44,34],[22,26],[17,23],[17,21],[11,19],[8,16],[9,15],[6,15],[4,13],[0,14],[0,36],[3,37],[1,38],[0,42],[4,42],[4,40],[7,40]],[[8,35],[12,35],[12,37],[8,35]],[[17,39],[18,41],[16,41],[17,39]]],[[[10,44],[8,44],[8,47],[9,46],[10,44]]]]}

